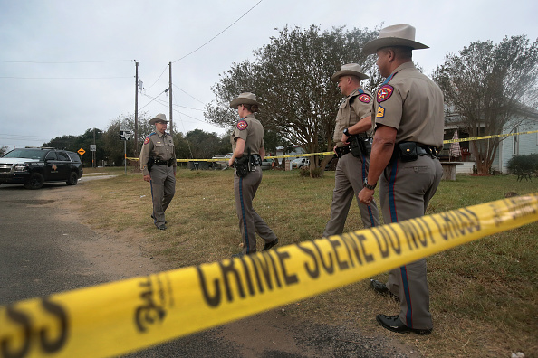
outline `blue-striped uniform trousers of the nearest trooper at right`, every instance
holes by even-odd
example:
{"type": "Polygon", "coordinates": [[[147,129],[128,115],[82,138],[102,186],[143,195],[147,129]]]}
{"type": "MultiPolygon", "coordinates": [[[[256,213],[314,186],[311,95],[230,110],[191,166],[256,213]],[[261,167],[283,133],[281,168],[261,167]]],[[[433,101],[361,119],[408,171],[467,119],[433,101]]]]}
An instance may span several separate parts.
{"type": "MultiPolygon", "coordinates": [[[[438,159],[419,155],[414,162],[392,160],[379,178],[379,195],[387,223],[424,216],[437,191],[443,169],[438,159]]],[[[399,319],[408,327],[431,329],[426,259],[389,272],[387,287],[399,297],[399,319]]]]}

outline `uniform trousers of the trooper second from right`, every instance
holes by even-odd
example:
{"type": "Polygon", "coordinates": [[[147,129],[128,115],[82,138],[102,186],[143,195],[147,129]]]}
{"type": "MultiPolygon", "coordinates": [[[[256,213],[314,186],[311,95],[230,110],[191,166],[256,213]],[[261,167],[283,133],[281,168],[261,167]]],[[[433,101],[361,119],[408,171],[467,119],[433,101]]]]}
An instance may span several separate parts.
{"type": "MultiPolygon", "coordinates": [[[[360,193],[364,178],[368,175],[370,159],[362,155],[360,158],[351,153],[342,155],[336,165],[334,174],[334,191],[332,192],[331,220],[327,222],[323,236],[339,235],[350,212],[353,197],[360,193]]],[[[378,206],[374,201],[370,205],[357,200],[360,218],[365,228],[379,225],[378,206]]]]}

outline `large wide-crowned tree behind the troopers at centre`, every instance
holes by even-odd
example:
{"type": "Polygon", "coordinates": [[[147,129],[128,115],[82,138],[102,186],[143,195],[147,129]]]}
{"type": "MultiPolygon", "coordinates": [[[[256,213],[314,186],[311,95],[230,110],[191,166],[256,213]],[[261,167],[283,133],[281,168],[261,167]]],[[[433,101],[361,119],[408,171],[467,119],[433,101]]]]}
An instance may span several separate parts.
{"type": "MultiPolygon", "coordinates": [[[[254,92],[262,104],[256,115],[266,131],[275,131],[284,140],[302,146],[306,152],[332,148],[332,132],[341,101],[340,90],[331,75],[341,65],[359,63],[370,81],[366,88],[379,85],[381,79],[375,59],[362,54],[366,42],[378,31],[344,30],[344,27],[321,31],[316,25],[302,30],[284,27],[278,37],[256,50],[255,61],[234,63],[212,87],[214,102],[206,107],[206,118],[223,127],[233,127],[235,110],[232,99],[245,91],[254,92]]],[[[322,162],[322,167],[331,157],[322,162]]],[[[311,160],[312,169],[320,166],[319,158],[311,160]]]]}

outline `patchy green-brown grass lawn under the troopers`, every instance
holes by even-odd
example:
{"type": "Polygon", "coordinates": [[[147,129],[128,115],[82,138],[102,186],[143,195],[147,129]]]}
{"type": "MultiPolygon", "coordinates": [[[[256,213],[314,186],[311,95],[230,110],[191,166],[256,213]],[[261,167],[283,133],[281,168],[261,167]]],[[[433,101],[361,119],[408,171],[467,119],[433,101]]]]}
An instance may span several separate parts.
{"type": "MultiPolygon", "coordinates": [[[[123,174],[122,167],[84,169],[85,174],[92,171],[119,176],[84,184],[91,193],[82,202],[88,222],[103,230],[140,232],[153,244],[153,255],[168,259],[169,269],[226,259],[240,251],[232,171],[179,169],[176,197],[167,211],[167,231],[157,231],[152,225],[149,184],[141,174],[132,175],[129,167],[129,175],[123,174]],[[99,207],[93,205],[96,200],[99,207]]],[[[265,171],[255,210],[281,245],[319,239],[330,216],[333,187],[334,172],[311,179],[300,177],[297,171],[265,171]]],[[[456,181],[439,185],[427,213],[503,199],[509,192],[537,193],[538,179],[517,182],[512,175],[457,175],[456,181]]],[[[376,191],[379,199],[377,195],[376,191]]],[[[354,203],[345,231],[360,229],[354,203]]],[[[518,351],[526,357],[538,356],[537,231],[534,222],[428,258],[434,333],[392,336],[428,357],[509,357],[518,351]]],[[[389,334],[374,317],[396,314],[398,307],[389,297],[375,296],[365,280],[290,305],[286,312],[312,322],[351,325],[365,334],[389,334]]]]}

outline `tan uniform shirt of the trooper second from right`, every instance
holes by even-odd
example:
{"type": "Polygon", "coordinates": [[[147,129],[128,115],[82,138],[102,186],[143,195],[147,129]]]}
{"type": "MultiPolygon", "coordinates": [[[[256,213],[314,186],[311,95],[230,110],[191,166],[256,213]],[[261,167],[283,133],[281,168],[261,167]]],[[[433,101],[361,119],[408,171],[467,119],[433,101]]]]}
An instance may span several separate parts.
{"type": "MultiPolygon", "coordinates": [[[[353,126],[360,119],[371,115],[371,93],[364,89],[355,89],[346,97],[338,108],[336,115],[336,126],[332,140],[336,146],[343,146],[341,136],[343,130],[353,126]]],[[[371,131],[370,131],[371,132],[371,131]]],[[[367,132],[370,134],[369,132],[367,132]]]]}

